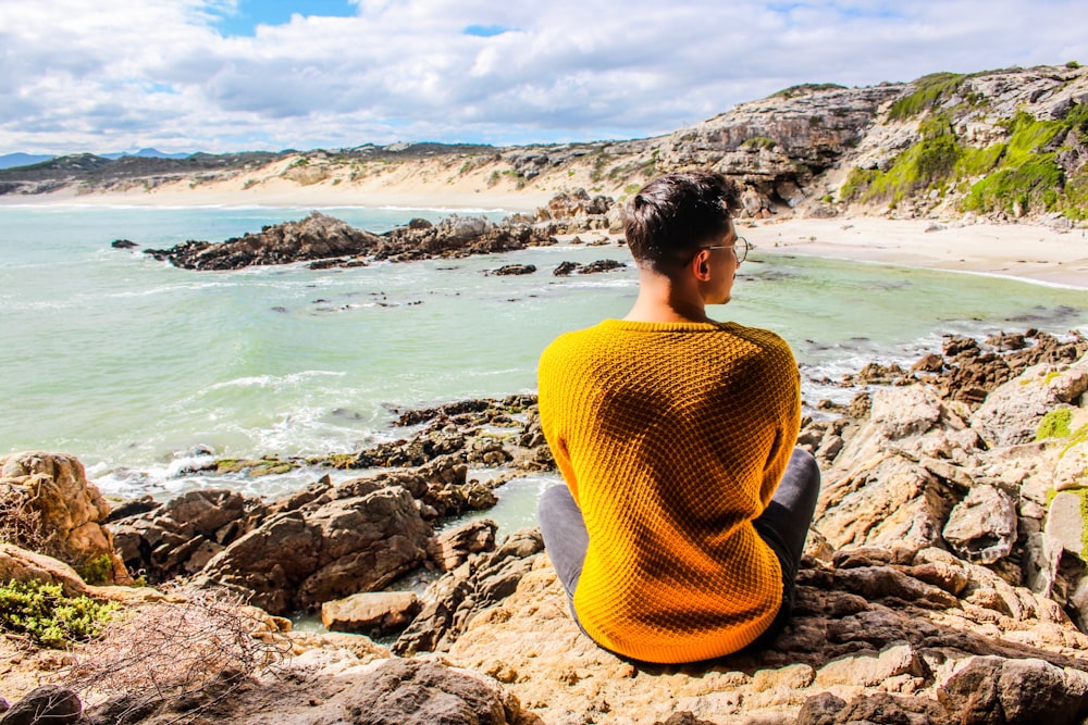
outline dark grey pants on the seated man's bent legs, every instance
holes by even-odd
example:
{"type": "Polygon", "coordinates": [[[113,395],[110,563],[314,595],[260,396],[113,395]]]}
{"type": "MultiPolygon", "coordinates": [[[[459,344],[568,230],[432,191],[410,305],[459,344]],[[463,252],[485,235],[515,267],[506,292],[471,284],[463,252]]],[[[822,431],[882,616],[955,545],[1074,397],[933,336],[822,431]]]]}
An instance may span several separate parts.
{"type": "MultiPolygon", "coordinates": [[[[790,618],[798,566],[818,497],[819,467],[816,460],[804,449],[794,448],[770,503],[763,515],[752,522],[782,566],[782,607],[770,627],[753,645],[772,639],[790,618]]],[[[548,558],[567,591],[574,622],[578,622],[573,605],[574,589],[582,574],[582,560],[590,540],[582,512],[566,486],[553,486],[544,491],[536,513],[548,558]]]]}

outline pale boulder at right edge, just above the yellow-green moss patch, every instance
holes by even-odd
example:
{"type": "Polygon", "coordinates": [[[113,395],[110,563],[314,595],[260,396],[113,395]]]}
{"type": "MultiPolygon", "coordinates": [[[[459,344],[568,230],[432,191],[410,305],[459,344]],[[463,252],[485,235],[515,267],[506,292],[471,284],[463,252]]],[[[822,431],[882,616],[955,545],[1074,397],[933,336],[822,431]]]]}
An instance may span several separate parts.
{"type": "Polygon", "coordinates": [[[1042,416],[1088,390],[1088,358],[1073,365],[1043,363],[991,392],[970,425],[996,446],[1033,440],[1042,416]]]}

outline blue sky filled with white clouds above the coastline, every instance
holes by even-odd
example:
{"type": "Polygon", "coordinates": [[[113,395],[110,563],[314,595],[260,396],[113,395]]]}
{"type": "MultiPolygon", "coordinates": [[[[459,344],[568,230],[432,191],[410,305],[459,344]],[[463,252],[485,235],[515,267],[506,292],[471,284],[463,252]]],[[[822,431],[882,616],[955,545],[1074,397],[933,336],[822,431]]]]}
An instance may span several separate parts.
{"type": "Polygon", "coordinates": [[[1088,63],[1088,0],[0,0],[0,154],[592,141],[1088,63]]]}

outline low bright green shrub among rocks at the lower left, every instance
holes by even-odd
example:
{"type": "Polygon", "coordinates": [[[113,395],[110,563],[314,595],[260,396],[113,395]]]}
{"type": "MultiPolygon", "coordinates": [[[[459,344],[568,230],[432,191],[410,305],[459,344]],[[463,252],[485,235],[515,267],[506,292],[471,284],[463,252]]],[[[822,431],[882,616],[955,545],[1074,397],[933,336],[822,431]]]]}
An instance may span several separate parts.
{"type": "Polygon", "coordinates": [[[61,585],[11,580],[0,587],[0,629],[41,647],[63,649],[95,637],[118,605],[65,597],[61,585]]]}

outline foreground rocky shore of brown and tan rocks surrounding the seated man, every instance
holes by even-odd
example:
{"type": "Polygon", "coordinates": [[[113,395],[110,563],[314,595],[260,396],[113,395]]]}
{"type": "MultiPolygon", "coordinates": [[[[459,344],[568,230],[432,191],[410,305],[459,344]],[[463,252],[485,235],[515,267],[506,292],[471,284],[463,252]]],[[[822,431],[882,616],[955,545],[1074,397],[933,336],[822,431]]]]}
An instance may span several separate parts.
{"type": "Polygon", "coordinates": [[[399,441],[305,461],[357,477],[275,501],[111,512],[71,457],[4,457],[0,580],[120,611],[65,651],[7,635],[0,723],[1083,722],[1088,340],[947,338],[841,385],[799,437],[824,485],[792,623],[683,666],[581,635],[539,532],[444,526],[553,465],[531,396],[405,412],[399,441]],[[430,584],[387,590],[406,576],[430,584]],[[295,632],[298,610],[359,634],[295,632]]]}

